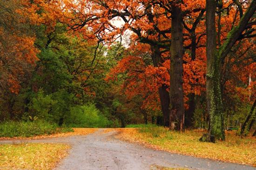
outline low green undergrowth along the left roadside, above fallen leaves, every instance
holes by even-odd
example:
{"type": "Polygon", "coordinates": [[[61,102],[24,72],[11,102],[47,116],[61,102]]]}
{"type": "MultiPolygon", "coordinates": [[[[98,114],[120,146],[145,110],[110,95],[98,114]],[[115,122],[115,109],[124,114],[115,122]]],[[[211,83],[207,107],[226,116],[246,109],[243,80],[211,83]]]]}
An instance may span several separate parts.
{"type": "Polygon", "coordinates": [[[70,132],[70,128],[59,128],[47,121],[8,121],[0,123],[0,137],[32,137],[36,135],[70,132]]]}

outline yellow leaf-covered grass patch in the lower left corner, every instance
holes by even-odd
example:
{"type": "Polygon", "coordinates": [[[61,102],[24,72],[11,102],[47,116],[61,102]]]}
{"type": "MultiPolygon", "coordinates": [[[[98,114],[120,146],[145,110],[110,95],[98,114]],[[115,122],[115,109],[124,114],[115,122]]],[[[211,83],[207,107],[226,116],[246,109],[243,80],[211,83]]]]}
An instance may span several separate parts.
{"type": "Polygon", "coordinates": [[[0,170],[52,170],[69,148],[64,144],[0,145],[0,170]]]}

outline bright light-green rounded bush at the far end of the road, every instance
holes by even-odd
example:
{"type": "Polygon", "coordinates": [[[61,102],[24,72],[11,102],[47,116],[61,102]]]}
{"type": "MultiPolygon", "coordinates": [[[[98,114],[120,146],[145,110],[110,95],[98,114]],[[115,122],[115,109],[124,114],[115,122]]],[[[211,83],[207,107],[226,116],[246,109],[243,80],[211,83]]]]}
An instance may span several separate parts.
{"type": "Polygon", "coordinates": [[[72,107],[66,124],[70,127],[108,127],[112,122],[102,115],[94,104],[87,104],[72,107]]]}

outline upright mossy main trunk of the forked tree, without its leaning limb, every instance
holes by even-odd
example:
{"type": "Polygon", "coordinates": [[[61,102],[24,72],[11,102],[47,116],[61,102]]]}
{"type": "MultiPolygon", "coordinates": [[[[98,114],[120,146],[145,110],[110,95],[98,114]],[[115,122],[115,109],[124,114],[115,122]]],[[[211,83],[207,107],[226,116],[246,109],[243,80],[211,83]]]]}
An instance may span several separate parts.
{"type": "Polygon", "coordinates": [[[207,110],[210,118],[209,133],[216,139],[225,140],[223,106],[221,94],[221,57],[216,51],[215,27],[216,1],[206,0],[206,97],[207,110]]]}

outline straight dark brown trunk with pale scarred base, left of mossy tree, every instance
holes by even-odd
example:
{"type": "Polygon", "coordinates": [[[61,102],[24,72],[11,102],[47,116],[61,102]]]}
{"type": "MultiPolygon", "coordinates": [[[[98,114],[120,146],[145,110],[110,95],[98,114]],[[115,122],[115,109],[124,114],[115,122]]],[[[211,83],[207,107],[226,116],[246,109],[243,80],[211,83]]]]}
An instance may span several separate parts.
{"type": "Polygon", "coordinates": [[[184,131],[182,10],[175,3],[171,9],[170,129],[184,131]]]}

